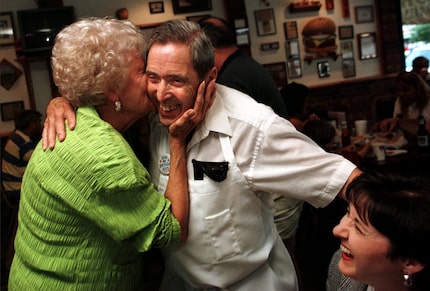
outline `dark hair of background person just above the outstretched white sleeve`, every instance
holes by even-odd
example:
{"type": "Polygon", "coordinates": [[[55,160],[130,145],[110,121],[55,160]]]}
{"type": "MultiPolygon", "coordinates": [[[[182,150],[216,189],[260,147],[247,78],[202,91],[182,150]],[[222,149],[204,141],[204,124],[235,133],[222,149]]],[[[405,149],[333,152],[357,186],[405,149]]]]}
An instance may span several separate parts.
{"type": "Polygon", "coordinates": [[[309,120],[303,125],[303,133],[309,136],[323,149],[327,149],[327,145],[336,136],[336,129],[325,120],[309,120]]]}

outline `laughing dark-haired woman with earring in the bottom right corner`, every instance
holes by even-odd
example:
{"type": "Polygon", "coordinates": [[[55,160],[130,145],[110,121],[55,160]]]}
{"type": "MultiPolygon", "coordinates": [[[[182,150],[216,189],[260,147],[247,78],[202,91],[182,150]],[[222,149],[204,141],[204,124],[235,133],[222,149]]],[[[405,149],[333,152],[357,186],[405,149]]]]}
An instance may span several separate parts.
{"type": "Polygon", "coordinates": [[[430,290],[430,181],[368,172],[346,198],[327,291],[430,290]]]}

